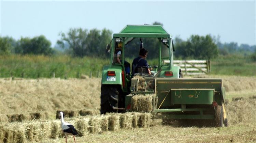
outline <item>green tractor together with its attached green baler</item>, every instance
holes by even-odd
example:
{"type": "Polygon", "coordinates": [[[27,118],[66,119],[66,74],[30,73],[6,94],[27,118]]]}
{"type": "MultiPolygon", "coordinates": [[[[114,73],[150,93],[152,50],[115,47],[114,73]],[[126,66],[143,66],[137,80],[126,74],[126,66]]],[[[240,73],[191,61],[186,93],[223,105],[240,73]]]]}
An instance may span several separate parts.
{"type": "MultiPolygon", "coordinates": [[[[140,48],[143,48],[142,42],[140,48]]],[[[222,79],[182,78],[181,68],[173,65],[173,40],[162,26],[127,25],[113,35],[107,50],[111,58],[110,65],[103,67],[101,114],[130,111],[133,96],[154,94],[152,113],[164,114],[165,120],[203,119],[213,120],[218,127],[227,126],[222,79]],[[137,76],[131,77],[126,72],[125,60],[121,64],[115,62],[118,43],[123,43],[122,59],[125,59],[125,45],[134,38],[158,39],[158,65],[154,66],[155,71],[152,70],[151,74],[145,67],[140,67],[136,70],[137,76]],[[168,57],[162,57],[162,48],[168,49],[168,57]],[[138,76],[143,78],[143,84],[150,86],[139,90],[142,79],[138,76]]]]}

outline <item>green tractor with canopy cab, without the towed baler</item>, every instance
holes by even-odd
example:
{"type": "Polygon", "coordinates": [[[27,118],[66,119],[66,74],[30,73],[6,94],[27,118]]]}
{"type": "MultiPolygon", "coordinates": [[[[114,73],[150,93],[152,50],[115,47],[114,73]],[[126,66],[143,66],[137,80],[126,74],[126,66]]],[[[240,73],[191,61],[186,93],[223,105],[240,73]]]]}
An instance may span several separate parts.
{"type": "MultiPolygon", "coordinates": [[[[181,70],[179,66],[173,65],[173,40],[170,34],[160,25],[127,25],[119,33],[113,34],[113,39],[106,46],[106,51],[110,53],[110,64],[103,67],[102,73],[102,96],[106,92],[109,92],[109,89],[114,89],[118,92],[118,95],[111,95],[115,97],[113,101],[104,98],[102,99],[101,104],[109,102],[111,106],[108,107],[105,112],[109,112],[109,109],[120,109],[124,107],[125,96],[130,94],[132,91],[131,79],[134,76],[142,77],[151,77],[151,78],[179,78],[181,75],[181,70]],[[133,57],[139,55],[139,50],[144,48],[143,39],[151,38],[158,41],[156,48],[158,48],[158,65],[154,65],[154,68],[151,66],[136,66],[132,67],[132,61],[126,61],[126,51],[132,50],[133,57]],[[139,39],[140,43],[136,43],[136,47],[129,46],[134,39],[139,39]],[[165,48],[165,53],[167,56],[163,57],[162,49],[165,48]],[[136,52],[137,51],[137,52],[136,52]],[[165,61],[169,62],[165,62],[165,61]],[[133,69],[134,68],[134,69],[133,69]],[[132,70],[134,74],[132,75],[132,70]],[[114,100],[118,100],[116,103],[114,100]],[[113,103],[113,104],[112,104],[113,103]]],[[[149,51],[150,53],[151,51],[149,51]]],[[[151,55],[157,53],[150,53],[151,55]]],[[[111,97],[111,98],[112,98],[111,97]]],[[[103,109],[103,108],[102,108],[103,109]]]]}

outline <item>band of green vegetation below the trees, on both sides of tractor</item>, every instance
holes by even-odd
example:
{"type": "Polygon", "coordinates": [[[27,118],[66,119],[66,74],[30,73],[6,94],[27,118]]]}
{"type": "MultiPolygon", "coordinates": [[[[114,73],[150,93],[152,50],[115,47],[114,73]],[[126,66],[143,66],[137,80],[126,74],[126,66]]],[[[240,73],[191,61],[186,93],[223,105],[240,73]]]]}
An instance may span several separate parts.
{"type": "MultiPolygon", "coordinates": [[[[126,61],[132,63],[132,58],[126,61]]],[[[0,77],[55,77],[77,78],[82,74],[101,77],[104,65],[110,63],[109,58],[99,57],[71,57],[68,55],[45,56],[45,55],[1,55],[0,77]]],[[[148,60],[152,67],[158,65],[158,59],[148,60]]],[[[219,56],[212,60],[212,75],[237,75],[256,76],[256,62],[245,59],[243,56],[227,55],[219,56]]]]}

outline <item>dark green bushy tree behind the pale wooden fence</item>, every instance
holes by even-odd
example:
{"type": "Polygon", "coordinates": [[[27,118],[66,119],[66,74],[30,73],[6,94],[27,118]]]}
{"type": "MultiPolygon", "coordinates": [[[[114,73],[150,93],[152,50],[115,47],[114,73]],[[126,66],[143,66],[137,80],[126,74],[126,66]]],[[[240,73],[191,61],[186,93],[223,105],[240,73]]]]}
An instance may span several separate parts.
{"type": "Polygon", "coordinates": [[[176,57],[212,59],[218,55],[217,46],[210,35],[191,35],[186,42],[179,42],[174,47],[176,57]]]}

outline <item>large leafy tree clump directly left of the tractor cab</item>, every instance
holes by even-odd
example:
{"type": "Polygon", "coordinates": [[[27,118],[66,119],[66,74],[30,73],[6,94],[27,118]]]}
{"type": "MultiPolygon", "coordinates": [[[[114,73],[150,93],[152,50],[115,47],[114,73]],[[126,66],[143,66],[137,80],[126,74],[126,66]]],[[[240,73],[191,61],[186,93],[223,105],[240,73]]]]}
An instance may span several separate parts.
{"type": "Polygon", "coordinates": [[[112,32],[107,29],[103,29],[102,31],[92,29],[88,33],[86,29],[74,28],[70,29],[67,35],[61,33],[60,36],[61,40],[58,40],[57,44],[64,47],[68,43],[69,48],[72,49],[75,56],[102,56],[105,53],[106,44],[111,41],[112,32]]]}

